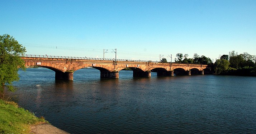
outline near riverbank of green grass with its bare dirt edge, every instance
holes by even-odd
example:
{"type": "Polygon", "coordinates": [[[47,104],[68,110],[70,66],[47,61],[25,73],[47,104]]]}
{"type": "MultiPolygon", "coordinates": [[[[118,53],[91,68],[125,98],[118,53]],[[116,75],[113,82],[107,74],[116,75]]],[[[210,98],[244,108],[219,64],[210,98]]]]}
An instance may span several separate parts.
{"type": "Polygon", "coordinates": [[[14,101],[0,99],[0,133],[1,134],[68,134],[48,124],[43,117],[19,108],[14,101]]]}

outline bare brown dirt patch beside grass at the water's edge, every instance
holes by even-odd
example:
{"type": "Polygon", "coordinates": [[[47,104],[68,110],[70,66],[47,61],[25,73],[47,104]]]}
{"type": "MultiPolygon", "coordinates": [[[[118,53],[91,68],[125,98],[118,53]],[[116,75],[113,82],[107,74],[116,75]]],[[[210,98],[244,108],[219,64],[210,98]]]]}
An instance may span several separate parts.
{"type": "Polygon", "coordinates": [[[31,126],[31,132],[34,134],[69,134],[48,123],[31,126]]]}

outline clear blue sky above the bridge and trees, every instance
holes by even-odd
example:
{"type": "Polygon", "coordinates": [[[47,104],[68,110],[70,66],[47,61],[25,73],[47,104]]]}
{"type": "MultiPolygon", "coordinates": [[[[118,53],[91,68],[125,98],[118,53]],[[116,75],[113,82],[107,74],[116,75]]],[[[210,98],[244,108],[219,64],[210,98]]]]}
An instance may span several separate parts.
{"type": "Polygon", "coordinates": [[[26,54],[172,61],[256,55],[256,0],[2,0],[0,34],[26,54]]]}

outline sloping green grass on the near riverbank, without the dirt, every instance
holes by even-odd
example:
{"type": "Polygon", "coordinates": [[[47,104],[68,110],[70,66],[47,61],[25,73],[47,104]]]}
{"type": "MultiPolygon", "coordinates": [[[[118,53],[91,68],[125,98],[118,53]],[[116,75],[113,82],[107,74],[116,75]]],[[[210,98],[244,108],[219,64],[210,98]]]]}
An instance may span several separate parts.
{"type": "Polygon", "coordinates": [[[43,122],[46,120],[19,108],[17,103],[0,99],[0,134],[29,134],[30,125],[43,122]]]}

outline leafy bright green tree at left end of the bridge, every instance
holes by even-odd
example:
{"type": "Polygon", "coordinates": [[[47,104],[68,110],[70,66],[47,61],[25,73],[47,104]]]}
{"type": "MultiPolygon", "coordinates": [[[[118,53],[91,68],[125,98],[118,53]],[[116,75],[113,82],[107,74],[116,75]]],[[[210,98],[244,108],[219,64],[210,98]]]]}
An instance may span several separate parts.
{"type": "Polygon", "coordinates": [[[0,90],[6,86],[14,91],[13,81],[19,80],[18,68],[25,70],[24,61],[19,57],[26,52],[25,47],[18,43],[13,36],[0,35],[0,90]],[[5,84],[8,85],[5,85],[5,84]]]}

